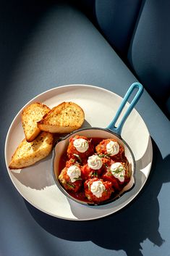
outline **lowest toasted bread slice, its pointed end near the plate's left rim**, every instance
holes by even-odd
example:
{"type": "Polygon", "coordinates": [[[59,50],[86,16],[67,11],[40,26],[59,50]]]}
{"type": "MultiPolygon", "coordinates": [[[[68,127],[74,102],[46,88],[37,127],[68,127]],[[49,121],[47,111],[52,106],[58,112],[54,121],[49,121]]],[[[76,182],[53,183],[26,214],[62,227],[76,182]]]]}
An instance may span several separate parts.
{"type": "Polygon", "coordinates": [[[42,160],[51,152],[53,141],[53,135],[46,132],[41,132],[31,142],[23,139],[12,156],[9,169],[22,169],[42,160]]]}

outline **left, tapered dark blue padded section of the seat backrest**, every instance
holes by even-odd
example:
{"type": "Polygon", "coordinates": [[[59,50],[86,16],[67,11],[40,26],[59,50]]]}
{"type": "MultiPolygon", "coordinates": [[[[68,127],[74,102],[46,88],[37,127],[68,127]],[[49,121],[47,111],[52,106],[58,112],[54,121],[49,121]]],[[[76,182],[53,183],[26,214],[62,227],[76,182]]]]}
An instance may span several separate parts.
{"type": "Polygon", "coordinates": [[[111,46],[126,58],[141,0],[95,0],[95,16],[111,46]]]}

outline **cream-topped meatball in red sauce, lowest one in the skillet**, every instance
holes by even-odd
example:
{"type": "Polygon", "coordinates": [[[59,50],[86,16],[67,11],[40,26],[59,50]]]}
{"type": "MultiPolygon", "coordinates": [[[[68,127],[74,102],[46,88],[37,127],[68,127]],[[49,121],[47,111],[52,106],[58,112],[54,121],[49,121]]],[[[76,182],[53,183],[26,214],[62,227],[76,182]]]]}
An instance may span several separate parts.
{"type": "Polygon", "coordinates": [[[110,181],[103,181],[101,178],[89,178],[84,183],[85,197],[90,202],[99,204],[108,200],[114,192],[110,181]]]}

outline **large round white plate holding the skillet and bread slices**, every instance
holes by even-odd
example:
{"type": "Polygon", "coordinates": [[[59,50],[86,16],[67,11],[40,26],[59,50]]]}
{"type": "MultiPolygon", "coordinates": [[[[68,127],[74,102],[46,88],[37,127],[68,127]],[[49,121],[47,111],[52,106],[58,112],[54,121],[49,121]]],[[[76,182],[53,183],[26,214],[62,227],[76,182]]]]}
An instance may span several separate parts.
{"type": "MultiPolygon", "coordinates": [[[[124,91],[125,93],[126,91],[124,91]]],[[[27,104],[42,102],[48,107],[54,107],[61,102],[69,101],[79,104],[85,111],[86,126],[106,128],[113,119],[122,98],[96,86],[71,85],[45,91],[27,104]]],[[[18,112],[9,127],[5,144],[5,160],[12,183],[22,197],[34,207],[57,218],[93,220],[122,209],[143,188],[150,173],[153,149],[148,128],[136,110],[132,110],[122,129],[122,139],[129,144],[135,155],[137,166],[135,187],[116,202],[97,207],[79,205],[61,194],[52,175],[51,155],[29,168],[17,171],[9,170],[8,165],[12,154],[24,138],[21,112],[22,110],[18,112]]]]}

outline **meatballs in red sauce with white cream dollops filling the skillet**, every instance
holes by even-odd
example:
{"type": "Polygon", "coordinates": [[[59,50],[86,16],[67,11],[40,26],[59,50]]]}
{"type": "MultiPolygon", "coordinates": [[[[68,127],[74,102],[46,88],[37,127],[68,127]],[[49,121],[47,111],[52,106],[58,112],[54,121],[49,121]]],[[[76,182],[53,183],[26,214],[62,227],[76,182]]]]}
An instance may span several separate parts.
{"type": "Polygon", "coordinates": [[[59,182],[76,199],[100,204],[116,197],[132,175],[124,146],[115,139],[73,136],[59,163],[59,182]],[[80,148],[74,141],[80,140],[80,148]],[[111,143],[110,143],[111,142],[111,143]],[[114,142],[112,144],[112,142],[114,142]],[[109,144],[110,143],[110,144],[109,144]],[[111,146],[116,150],[107,150],[111,146]],[[78,150],[77,150],[78,149],[78,150]]]}

